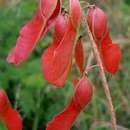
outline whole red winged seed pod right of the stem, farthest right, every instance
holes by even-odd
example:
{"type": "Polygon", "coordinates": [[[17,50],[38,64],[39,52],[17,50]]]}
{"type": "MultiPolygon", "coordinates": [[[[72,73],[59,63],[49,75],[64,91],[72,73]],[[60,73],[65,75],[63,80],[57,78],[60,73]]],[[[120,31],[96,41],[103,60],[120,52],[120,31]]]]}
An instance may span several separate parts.
{"type": "Polygon", "coordinates": [[[105,70],[115,74],[120,63],[120,47],[112,43],[105,13],[96,6],[89,7],[87,22],[100,51],[105,70]]]}

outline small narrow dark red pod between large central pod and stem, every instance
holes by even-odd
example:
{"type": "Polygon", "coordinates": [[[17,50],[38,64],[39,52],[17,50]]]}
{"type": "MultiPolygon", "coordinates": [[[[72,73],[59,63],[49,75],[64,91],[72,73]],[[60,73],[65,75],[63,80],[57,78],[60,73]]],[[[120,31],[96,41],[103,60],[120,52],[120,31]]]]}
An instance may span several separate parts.
{"type": "Polygon", "coordinates": [[[77,66],[82,74],[84,71],[84,49],[83,49],[82,38],[80,38],[76,43],[75,60],[76,60],[77,66]]]}

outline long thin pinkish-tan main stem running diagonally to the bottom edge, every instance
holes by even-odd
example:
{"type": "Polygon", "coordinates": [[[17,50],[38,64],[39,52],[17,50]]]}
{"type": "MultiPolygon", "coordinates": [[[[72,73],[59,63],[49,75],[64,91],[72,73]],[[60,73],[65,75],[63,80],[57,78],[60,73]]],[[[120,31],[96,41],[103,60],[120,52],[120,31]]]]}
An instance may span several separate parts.
{"type": "Polygon", "coordinates": [[[86,25],[87,25],[87,32],[88,32],[88,35],[89,35],[89,38],[90,38],[90,41],[91,41],[91,45],[92,45],[92,48],[93,48],[93,53],[96,57],[98,65],[100,66],[100,76],[101,76],[104,91],[105,91],[105,94],[106,94],[106,97],[107,97],[107,100],[108,100],[108,108],[109,108],[109,111],[111,113],[112,129],[117,130],[115,111],[114,111],[114,107],[113,107],[113,104],[112,104],[112,98],[111,98],[111,94],[110,94],[110,90],[109,90],[109,85],[107,83],[107,79],[106,79],[106,76],[105,76],[102,60],[100,58],[100,53],[99,53],[97,45],[96,45],[96,43],[93,39],[92,33],[89,29],[89,26],[88,26],[88,24],[86,24],[86,25]]]}

